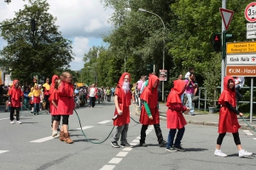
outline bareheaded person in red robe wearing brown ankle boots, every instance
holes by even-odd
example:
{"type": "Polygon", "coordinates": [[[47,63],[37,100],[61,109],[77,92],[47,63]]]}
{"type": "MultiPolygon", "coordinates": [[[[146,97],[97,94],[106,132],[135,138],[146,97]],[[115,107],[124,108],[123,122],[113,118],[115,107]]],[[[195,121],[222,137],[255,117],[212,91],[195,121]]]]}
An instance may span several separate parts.
{"type": "Polygon", "coordinates": [[[72,144],[73,140],[70,139],[67,126],[69,116],[73,115],[75,103],[73,99],[73,77],[69,72],[61,73],[61,84],[58,91],[59,100],[56,113],[62,116],[60,140],[66,141],[67,144],[72,144]]]}

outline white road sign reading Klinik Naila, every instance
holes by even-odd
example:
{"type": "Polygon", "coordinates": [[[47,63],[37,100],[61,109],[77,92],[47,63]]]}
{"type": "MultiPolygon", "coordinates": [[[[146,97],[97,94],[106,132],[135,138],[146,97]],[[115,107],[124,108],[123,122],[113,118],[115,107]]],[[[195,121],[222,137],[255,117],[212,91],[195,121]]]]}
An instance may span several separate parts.
{"type": "Polygon", "coordinates": [[[256,54],[227,55],[227,65],[256,65],[256,54]]]}

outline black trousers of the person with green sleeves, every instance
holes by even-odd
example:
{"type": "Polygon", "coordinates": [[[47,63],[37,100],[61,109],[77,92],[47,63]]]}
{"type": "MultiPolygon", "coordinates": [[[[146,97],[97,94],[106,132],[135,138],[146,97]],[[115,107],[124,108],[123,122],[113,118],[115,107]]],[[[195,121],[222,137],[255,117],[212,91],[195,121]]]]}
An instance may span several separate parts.
{"type": "MultiPolygon", "coordinates": [[[[148,125],[142,126],[140,144],[145,143],[147,129],[148,129],[148,125]]],[[[161,144],[164,139],[163,139],[162,131],[160,129],[160,124],[154,124],[154,132],[156,134],[158,143],[161,144]]]]}

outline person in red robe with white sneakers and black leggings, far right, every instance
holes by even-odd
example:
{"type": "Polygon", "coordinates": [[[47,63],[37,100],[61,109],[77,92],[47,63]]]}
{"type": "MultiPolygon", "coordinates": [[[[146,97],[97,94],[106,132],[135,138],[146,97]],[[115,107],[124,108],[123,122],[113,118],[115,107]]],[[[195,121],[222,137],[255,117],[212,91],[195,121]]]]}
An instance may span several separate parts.
{"type": "Polygon", "coordinates": [[[233,77],[224,77],[224,91],[218,98],[218,104],[221,105],[221,108],[218,119],[218,139],[214,155],[221,157],[227,156],[220,150],[220,147],[226,133],[232,133],[238,150],[238,156],[252,156],[252,152],[243,150],[241,147],[241,141],[238,133],[238,128],[240,128],[240,125],[237,121],[236,115],[242,116],[243,114],[236,110],[236,89],[233,77]]]}

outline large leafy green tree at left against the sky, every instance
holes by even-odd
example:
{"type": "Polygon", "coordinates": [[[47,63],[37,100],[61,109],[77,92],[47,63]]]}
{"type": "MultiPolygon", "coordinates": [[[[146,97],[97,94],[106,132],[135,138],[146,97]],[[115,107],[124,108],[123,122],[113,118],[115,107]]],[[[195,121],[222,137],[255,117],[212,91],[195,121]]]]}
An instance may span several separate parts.
{"type": "Polygon", "coordinates": [[[47,13],[49,3],[46,0],[29,0],[15,13],[12,20],[1,22],[1,36],[8,45],[1,50],[3,65],[12,65],[12,78],[21,81],[31,80],[28,75],[40,72],[49,77],[56,71],[67,70],[73,60],[72,42],[61,36],[57,20],[47,13]],[[36,31],[31,31],[30,20],[36,20],[36,31]],[[28,20],[12,26],[4,26],[28,20]]]}

